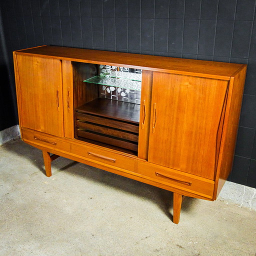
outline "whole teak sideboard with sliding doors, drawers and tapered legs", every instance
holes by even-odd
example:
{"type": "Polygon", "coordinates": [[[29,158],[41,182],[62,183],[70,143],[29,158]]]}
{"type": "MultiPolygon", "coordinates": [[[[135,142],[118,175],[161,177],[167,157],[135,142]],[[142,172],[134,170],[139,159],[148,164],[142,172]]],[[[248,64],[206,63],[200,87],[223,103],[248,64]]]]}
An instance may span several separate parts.
{"type": "Polygon", "coordinates": [[[46,176],[63,156],[215,200],[232,167],[246,65],[38,46],[13,52],[21,137],[46,176]]]}

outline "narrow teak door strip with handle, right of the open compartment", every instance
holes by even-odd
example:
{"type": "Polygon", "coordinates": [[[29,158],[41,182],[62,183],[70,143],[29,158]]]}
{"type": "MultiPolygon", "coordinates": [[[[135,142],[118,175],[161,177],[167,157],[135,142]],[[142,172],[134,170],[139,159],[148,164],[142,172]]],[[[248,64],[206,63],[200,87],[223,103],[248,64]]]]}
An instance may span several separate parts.
{"type": "Polygon", "coordinates": [[[138,157],[147,160],[153,72],[142,71],[138,157]]]}

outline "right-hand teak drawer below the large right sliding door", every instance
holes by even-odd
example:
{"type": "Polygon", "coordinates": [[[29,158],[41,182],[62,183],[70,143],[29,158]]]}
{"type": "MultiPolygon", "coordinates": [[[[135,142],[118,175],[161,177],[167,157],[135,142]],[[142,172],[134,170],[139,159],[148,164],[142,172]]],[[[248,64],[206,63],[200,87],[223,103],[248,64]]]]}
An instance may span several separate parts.
{"type": "MultiPolygon", "coordinates": [[[[213,196],[214,180],[211,179],[140,161],[137,163],[137,172],[147,176],[150,180],[177,189],[182,189],[209,199],[213,196]]],[[[180,193],[182,193],[182,191],[180,193]]]]}

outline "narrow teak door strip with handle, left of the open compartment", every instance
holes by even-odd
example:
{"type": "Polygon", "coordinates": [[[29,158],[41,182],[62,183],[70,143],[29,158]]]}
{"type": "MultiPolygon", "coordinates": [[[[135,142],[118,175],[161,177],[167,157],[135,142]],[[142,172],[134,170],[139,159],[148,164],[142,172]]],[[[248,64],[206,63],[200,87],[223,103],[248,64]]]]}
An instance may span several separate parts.
{"type": "Polygon", "coordinates": [[[73,73],[71,61],[62,60],[64,136],[74,138],[73,73]]]}

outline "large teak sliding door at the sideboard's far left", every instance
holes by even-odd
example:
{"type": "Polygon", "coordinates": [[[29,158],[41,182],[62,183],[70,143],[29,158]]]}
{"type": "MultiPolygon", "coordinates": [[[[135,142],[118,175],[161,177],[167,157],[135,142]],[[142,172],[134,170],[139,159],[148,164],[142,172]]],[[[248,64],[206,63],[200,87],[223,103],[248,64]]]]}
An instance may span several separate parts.
{"type": "Polygon", "coordinates": [[[21,126],[63,136],[61,61],[17,54],[21,126]]]}

